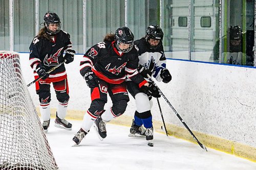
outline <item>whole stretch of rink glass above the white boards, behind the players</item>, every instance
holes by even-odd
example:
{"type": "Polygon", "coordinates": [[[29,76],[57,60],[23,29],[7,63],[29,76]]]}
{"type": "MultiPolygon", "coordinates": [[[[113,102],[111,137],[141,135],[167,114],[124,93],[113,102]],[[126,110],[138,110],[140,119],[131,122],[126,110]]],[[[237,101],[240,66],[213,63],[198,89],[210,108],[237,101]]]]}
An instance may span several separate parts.
{"type": "MultiPolygon", "coordinates": [[[[3,23],[0,40],[4,44],[2,48],[8,49],[9,1],[0,0],[0,3],[5,16],[0,18],[3,23]]],[[[139,39],[145,35],[148,25],[156,24],[161,25],[164,32],[166,58],[227,63],[230,56],[229,28],[239,26],[243,32],[242,55],[241,61],[234,64],[252,66],[254,4],[254,0],[13,1],[14,51],[29,52],[29,45],[41,28],[35,28],[38,8],[39,23],[43,22],[46,12],[59,15],[62,29],[70,33],[73,48],[80,54],[102,41],[105,34],[114,33],[118,27],[129,27],[135,39],[139,39]],[[37,3],[38,7],[35,7],[37,3]],[[186,25],[180,24],[185,20],[186,25]]]]}

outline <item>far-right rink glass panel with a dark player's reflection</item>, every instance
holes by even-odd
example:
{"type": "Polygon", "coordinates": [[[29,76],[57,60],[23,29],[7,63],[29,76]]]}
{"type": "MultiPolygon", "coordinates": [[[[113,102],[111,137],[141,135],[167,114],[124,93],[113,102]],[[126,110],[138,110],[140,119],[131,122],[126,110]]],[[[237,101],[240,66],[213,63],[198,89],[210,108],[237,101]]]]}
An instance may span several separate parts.
{"type": "Polygon", "coordinates": [[[221,62],[253,66],[254,1],[225,1],[222,8],[225,24],[222,25],[221,62]],[[236,34],[240,36],[234,37],[236,34]]]}

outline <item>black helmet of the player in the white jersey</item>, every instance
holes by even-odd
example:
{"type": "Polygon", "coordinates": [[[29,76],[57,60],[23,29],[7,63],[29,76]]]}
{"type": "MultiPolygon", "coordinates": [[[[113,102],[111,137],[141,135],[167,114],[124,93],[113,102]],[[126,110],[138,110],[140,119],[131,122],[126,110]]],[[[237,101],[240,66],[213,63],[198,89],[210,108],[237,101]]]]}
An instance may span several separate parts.
{"type": "Polygon", "coordinates": [[[163,40],[163,31],[159,26],[148,26],[147,27],[147,29],[146,29],[146,42],[150,46],[150,48],[152,48],[152,49],[158,48],[162,44],[162,40],[163,40]],[[160,40],[160,42],[157,45],[152,46],[148,42],[150,39],[160,40]]]}

